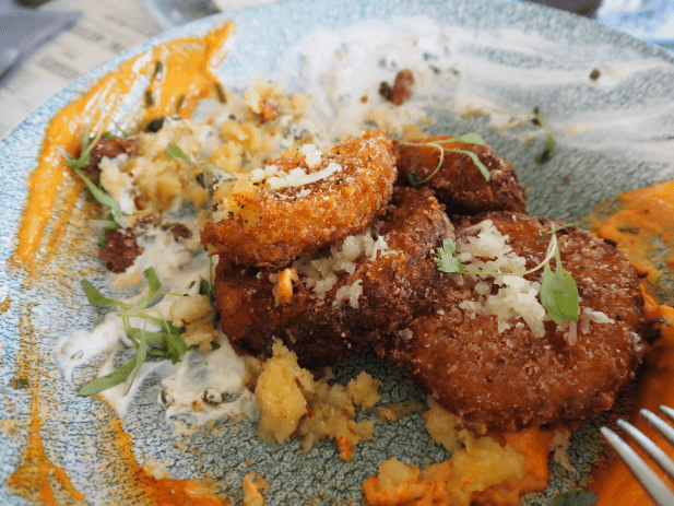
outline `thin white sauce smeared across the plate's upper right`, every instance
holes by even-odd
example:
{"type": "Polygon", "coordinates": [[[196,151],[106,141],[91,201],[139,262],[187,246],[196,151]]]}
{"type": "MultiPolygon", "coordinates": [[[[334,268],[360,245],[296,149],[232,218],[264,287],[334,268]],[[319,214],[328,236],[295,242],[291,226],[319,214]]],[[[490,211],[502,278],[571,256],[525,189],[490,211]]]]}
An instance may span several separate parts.
{"type": "MultiPolygon", "coordinates": [[[[489,116],[492,127],[501,129],[511,118],[495,111],[525,111],[534,105],[545,108],[539,96],[547,96],[546,90],[566,93],[574,86],[594,87],[605,95],[629,85],[638,74],[667,70],[661,58],[645,58],[629,47],[616,51],[610,43],[574,43],[578,56],[569,58],[570,45],[534,31],[440,27],[427,17],[393,19],[386,25],[367,22],[339,33],[324,28],[311,32],[288,54],[279,78],[287,79],[283,69],[299,61],[296,85],[317,97],[317,114],[329,126],[326,134],[340,138],[364,128],[364,115],[371,110],[379,115],[395,110],[398,118],[385,127],[395,136],[402,133],[404,122],[423,122],[433,109],[480,113],[489,116]],[[542,64],[500,63],[489,57],[492,51],[540,60],[542,64]],[[398,108],[386,103],[378,89],[382,81],[392,83],[404,68],[415,78],[413,99],[398,108]],[[595,81],[589,79],[593,68],[601,72],[595,81]],[[362,97],[367,101],[362,102],[362,97]]],[[[590,110],[543,110],[558,141],[571,148],[618,153],[629,144],[630,155],[665,164],[663,177],[674,174],[674,164],[666,156],[674,150],[674,141],[663,140],[659,126],[666,130],[673,113],[672,102],[639,104],[634,110],[601,101],[590,110]],[[657,140],[651,141],[653,138],[657,140]]],[[[518,139],[525,142],[531,134],[519,133],[518,139]]],[[[533,134],[545,136],[543,131],[533,134]]]]}

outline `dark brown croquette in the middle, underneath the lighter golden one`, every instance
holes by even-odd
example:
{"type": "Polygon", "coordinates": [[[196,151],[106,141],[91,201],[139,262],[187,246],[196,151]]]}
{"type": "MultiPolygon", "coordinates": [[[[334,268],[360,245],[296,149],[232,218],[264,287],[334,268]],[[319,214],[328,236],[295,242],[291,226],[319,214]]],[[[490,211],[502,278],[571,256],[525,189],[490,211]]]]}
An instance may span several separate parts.
{"type": "Polygon", "coordinates": [[[279,278],[287,281],[287,275],[239,267],[221,257],[215,298],[221,327],[234,350],[269,356],[277,338],[303,367],[316,369],[363,350],[379,332],[405,325],[442,278],[434,250],[444,237],[453,237],[453,227],[430,189],[398,188],[391,204],[371,226],[369,238],[351,236],[322,255],[294,262],[299,283],[285,302],[279,301],[274,283],[279,278]],[[354,252],[358,240],[370,249],[354,252]],[[317,281],[311,276],[319,269],[317,281]],[[333,285],[326,286],[331,279],[333,285]]]}

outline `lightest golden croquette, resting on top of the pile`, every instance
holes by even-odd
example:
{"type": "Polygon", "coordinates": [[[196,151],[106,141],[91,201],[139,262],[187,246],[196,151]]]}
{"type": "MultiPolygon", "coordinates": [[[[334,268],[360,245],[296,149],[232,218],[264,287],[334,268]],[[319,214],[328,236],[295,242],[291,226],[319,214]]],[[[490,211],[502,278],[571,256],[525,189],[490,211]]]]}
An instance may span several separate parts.
{"type": "Polygon", "coordinates": [[[392,141],[383,131],[338,144],[314,168],[298,151],[271,165],[276,173],[259,183],[259,191],[229,195],[226,215],[201,233],[204,247],[237,264],[286,266],[364,231],[386,212],[397,174],[392,141]],[[321,170],[327,175],[316,181],[279,186],[310,180],[304,176],[321,170]]]}

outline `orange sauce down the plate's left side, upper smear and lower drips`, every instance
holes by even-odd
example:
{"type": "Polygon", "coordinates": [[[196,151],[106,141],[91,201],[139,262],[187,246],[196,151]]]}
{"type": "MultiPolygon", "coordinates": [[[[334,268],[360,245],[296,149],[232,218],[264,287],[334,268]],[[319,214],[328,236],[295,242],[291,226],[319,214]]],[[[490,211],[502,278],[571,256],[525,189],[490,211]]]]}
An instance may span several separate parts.
{"type": "MultiPolygon", "coordinates": [[[[55,202],[64,178],[76,177],[70,173],[59,149],[78,155],[82,149],[82,132],[85,126],[105,121],[143,77],[151,77],[146,96],[151,95],[152,99],[151,104],[145,104],[134,116],[140,125],[159,116],[174,114],[189,116],[201,98],[210,95],[214,86],[220,86],[214,70],[226,56],[225,43],[233,32],[234,24],[228,22],[205,37],[181,38],[150,49],[123,62],[118,70],[97,82],[82,98],[66,106],[54,117],[45,132],[37,168],[28,178],[28,197],[17,234],[19,246],[12,257],[13,262],[34,268],[39,260],[38,255],[43,254],[39,251],[42,248],[46,248],[47,254],[56,251],[59,238],[68,225],[69,210],[72,211],[76,196],[83,188],[76,180],[68,191],[69,195],[63,196],[62,200],[67,202],[66,207],[69,209],[61,213],[51,237],[45,239],[44,232],[48,222],[54,219],[55,202]]],[[[9,304],[8,296],[0,305],[0,311],[4,311],[9,304]]],[[[23,339],[25,336],[22,336],[23,339]]],[[[28,373],[32,377],[35,376],[32,374],[32,368],[28,373]]],[[[26,498],[56,506],[55,489],[52,489],[52,482],[56,480],[72,498],[84,501],[85,496],[72,486],[66,471],[49,460],[39,435],[40,425],[37,396],[34,393],[24,460],[8,479],[8,487],[26,498]]],[[[130,436],[121,431],[121,424],[118,428],[121,450],[129,457],[128,464],[134,470],[134,482],[141,485],[146,496],[154,498],[155,504],[168,506],[229,504],[213,495],[215,490],[199,480],[157,480],[147,474],[133,459],[130,436]]]]}

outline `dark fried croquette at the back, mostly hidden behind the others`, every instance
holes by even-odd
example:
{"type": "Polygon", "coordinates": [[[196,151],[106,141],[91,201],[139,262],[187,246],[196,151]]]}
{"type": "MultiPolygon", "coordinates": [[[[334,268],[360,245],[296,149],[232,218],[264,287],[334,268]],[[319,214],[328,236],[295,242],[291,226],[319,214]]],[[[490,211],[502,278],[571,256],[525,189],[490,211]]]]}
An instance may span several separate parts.
{"type": "MultiPolygon", "coordinates": [[[[409,185],[409,175],[415,172],[423,180],[438,166],[440,151],[434,146],[414,145],[451,139],[436,136],[418,139],[412,144],[395,143],[399,184],[409,185]]],[[[441,144],[445,157],[440,169],[426,183],[436,190],[440,203],[452,214],[475,214],[485,211],[527,212],[517,173],[510,162],[496,155],[488,145],[450,142],[441,144]],[[477,166],[464,153],[448,150],[472,151],[489,169],[487,183],[477,166]]]]}

